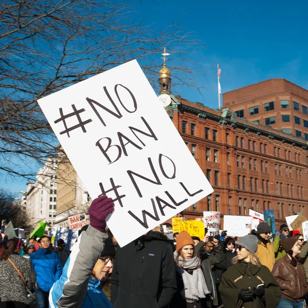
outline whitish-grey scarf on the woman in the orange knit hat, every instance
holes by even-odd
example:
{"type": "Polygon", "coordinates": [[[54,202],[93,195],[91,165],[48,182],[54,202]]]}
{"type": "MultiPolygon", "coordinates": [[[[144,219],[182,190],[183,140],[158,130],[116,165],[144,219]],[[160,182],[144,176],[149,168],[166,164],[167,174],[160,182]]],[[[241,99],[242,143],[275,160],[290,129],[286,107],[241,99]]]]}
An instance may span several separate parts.
{"type": "Polygon", "coordinates": [[[205,298],[206,295],[209,294],[209,291],[200,267],[201,260],[196,256],[192,259],[185,259],[185,262],[183,262],[183,258],[179,256],[178,263],[179,266],[183,266],[177,266],[177,271],[181,275],[184,283],[184,289],[181,291],[182,297],[188,303],[193,303],[200,298],[205,298]],[[192,275],[187,273],[184,269],[192,270],[192,275]]]}

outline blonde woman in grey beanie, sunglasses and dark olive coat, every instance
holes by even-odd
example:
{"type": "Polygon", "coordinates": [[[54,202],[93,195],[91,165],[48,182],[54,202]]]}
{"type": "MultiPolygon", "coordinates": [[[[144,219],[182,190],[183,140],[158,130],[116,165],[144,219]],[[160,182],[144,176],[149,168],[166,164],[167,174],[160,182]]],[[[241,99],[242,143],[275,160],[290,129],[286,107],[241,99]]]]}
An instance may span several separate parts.
{"type": "Polygon", "coordinates": [[[236,243],[235,264],[223,274],[219,292],[225,308],[274,308],[278,305],[280,286],[255,255],[258,239],[246,235],[236,243]]]}

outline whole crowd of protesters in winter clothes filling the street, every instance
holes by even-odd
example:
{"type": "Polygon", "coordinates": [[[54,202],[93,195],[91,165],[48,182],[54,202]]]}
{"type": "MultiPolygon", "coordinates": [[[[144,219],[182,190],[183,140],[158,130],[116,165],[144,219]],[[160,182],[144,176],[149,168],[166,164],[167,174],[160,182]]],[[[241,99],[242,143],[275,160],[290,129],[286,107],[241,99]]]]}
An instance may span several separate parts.
{"type": "Polygon", "coordinates": [[[241,238],[150,231],[120,247],[106,230],[113,206],[92,202],[71,252],[48,235],[0,239],[0,308],[306,307],[308,242],[286,224],[241,238]]]}

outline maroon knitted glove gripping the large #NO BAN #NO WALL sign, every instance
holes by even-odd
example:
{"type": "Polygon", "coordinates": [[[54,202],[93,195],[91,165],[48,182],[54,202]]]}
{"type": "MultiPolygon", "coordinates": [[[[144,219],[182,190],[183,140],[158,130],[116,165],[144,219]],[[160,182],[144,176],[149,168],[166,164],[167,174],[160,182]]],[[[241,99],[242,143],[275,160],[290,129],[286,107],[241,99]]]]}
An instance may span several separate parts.
{"type": "Polygon", "coordinates": [[[105,232],[106,217],[114,210],[114,203],[111,198],[107,196],[100,196],[94,199],[89,207],[90,225],[105,232]]]}

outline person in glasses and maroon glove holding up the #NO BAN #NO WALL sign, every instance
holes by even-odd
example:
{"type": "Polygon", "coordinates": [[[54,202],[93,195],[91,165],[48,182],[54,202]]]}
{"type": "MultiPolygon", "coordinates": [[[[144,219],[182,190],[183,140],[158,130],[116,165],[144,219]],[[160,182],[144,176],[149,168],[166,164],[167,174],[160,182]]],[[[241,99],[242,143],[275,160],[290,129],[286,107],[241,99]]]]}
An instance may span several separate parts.
{"type": "Polygon", "coordinates": [[[50,290],[50,308],[112,308],[100,284],[111,272],[115,256],[112,239],[105,231],[105,220],[113,206],[107,196],[93,200],[89,208],[90,225],[73,245],[62,276],[50,290]]]}

